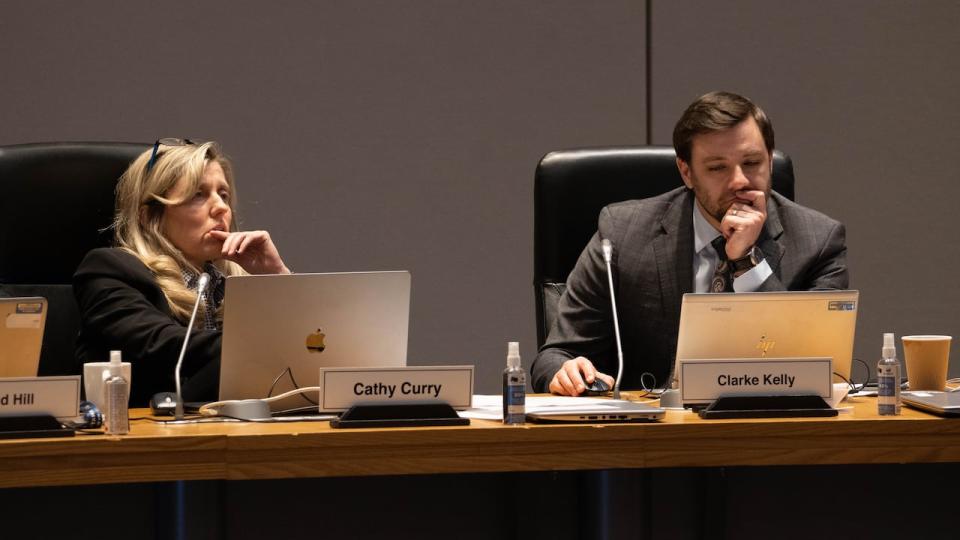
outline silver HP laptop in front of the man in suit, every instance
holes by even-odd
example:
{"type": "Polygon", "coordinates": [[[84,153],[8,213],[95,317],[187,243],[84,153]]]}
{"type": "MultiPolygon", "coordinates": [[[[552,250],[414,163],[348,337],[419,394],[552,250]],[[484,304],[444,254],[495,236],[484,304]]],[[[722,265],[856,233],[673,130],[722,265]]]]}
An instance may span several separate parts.
{"type": "Polygon", "coordinates": [[[834,373],[849,379],[859,297],[858,291],[685,294],[677,362],[830,357],[834,373]]]}

